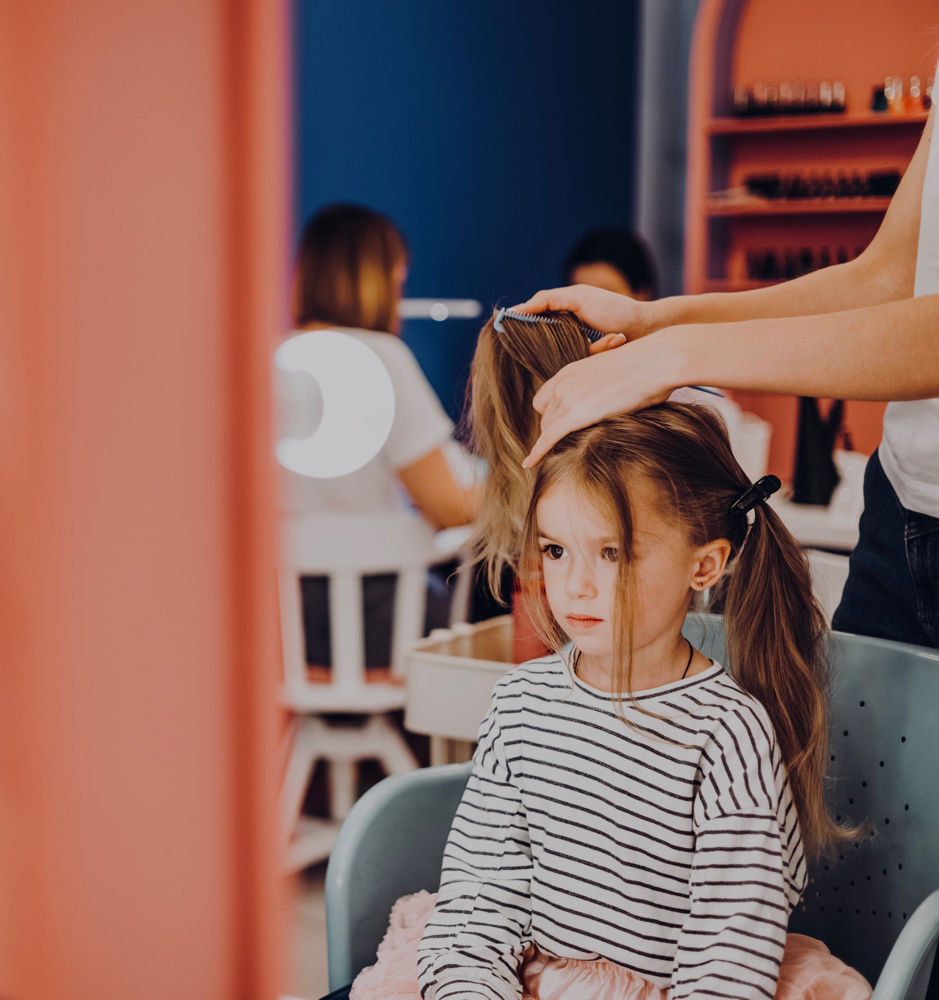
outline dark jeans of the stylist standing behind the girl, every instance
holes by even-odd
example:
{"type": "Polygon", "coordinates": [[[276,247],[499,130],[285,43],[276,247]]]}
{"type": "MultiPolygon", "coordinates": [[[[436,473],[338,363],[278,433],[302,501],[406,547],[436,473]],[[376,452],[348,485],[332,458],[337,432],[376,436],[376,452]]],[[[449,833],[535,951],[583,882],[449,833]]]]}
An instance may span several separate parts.
{"type": "Polygon", "coordinates": [[[901,505],[877,452],[864,473],[861,537],[832,628],[939,648],[939,518],[901,505]]]}

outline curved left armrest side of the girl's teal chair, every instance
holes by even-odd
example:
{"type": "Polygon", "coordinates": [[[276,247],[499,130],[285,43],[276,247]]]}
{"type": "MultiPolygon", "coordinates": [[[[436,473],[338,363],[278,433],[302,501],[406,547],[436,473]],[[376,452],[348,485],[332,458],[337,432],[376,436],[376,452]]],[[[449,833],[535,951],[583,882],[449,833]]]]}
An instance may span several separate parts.
{"type": "Polygon", "coordinates": [[[330,990],[351,983],[375,961],[396,899],[437,891],[450,824],[472,766],[392,775],[352,807],[326,872],[330,990]]]}

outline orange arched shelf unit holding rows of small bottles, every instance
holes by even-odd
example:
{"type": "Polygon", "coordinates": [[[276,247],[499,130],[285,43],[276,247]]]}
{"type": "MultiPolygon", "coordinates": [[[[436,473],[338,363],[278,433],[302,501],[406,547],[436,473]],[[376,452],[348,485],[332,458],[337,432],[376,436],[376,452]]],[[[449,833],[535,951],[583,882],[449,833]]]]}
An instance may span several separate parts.
{"type": "MultiPolygon", "coordinates": [[[[901,173],[919,142],[925,114],[870,110],[872,88],[886,76],[926,79],[935,73],[931,26],[939,0],[701,0],[689,75],[688,183],[685,200],[685,291],[744,291],[778,282],[747,274],[747,252],[812,251],[819,260],[853,259],[873,239],[889,198],[791,201],[720,197],[745,189],[754,175],[809,178],[844,172],[901,173]],[[732,115],[733,88],[757,80],[841,80],[840,114],[732,115]]],[[[771,348],[769,348],[771,349],[771,348]]],[[[797,400],[735,392],[743,406],[773,425],[770,472],[791,479],[797,400]]],[[[885,404],[849,401],[845,426],[871,453],[885,404]]]]}

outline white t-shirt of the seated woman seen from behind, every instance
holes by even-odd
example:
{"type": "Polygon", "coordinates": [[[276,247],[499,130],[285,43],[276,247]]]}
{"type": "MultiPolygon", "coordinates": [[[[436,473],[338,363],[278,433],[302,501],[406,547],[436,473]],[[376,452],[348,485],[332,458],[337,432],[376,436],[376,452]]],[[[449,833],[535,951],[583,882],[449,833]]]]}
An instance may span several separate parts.
{"type": "MultiPolygon", "coordinates": [[[[379,453],[361,469],[336,479],[310,479],[281,468],[281,504],[295,513],[377,514],[408,508],[407,494],[397,479],[399,469],[412,465],[443,447],[453,431],[453,423],[431,388],[406,344],[390,333],[340,329],[370,347],[381,359],[395,394],[395,415],[388,440],[379,453]]],[[[302,383],[301,383],[302,385],[302,383]]],[[[294,383],[292,403],[296,407],[294,383]]],[[[282,401],[284,393],[279,393],[282,401]]],[[[306,401],[311,410],[316,401],[306,401]]],[[[282,402],[282,406],[284,402],[282,402]]],[[[296,421],[296,414],[282,414],[282,420],[296,421]]],[[[301,416],[302,422],[302,416],[301,416]]]]}

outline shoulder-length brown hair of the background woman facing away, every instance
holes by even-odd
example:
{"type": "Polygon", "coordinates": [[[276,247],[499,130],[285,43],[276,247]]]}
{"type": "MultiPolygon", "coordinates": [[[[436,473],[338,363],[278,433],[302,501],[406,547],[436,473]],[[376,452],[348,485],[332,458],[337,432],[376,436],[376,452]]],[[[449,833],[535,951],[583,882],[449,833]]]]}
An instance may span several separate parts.
{"type": "Polygon", "coordinates": [[[307,223],[297,252],[294,320],[394,333],[395,268],[404,237],[387,216],[362,205],[328,205],[307,223]]]}

